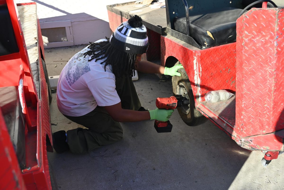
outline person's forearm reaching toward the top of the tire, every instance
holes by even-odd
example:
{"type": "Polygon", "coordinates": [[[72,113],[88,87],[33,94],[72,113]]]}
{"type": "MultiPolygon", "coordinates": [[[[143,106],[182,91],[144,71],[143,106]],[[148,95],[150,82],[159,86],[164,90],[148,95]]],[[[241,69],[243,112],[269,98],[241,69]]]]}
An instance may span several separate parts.
{"type": "Polygon", "coordinates": [[[161,65],[157,65],[150,61],[141,60],[136,64],[135,70],[142,72],[142,73],[164,74],[165,67],[161,65]]]}

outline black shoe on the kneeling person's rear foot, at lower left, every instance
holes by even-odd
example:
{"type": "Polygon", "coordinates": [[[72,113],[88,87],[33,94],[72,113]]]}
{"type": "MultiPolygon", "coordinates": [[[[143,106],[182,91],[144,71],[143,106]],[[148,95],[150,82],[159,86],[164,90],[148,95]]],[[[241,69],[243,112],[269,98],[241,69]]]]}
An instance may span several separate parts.
{"type": "Polygon", "coordinates": [[[52,133],[53,148],[57,153],[63,153],[69,150],[65,133],[66,132],[63,130],[52,133]]]}

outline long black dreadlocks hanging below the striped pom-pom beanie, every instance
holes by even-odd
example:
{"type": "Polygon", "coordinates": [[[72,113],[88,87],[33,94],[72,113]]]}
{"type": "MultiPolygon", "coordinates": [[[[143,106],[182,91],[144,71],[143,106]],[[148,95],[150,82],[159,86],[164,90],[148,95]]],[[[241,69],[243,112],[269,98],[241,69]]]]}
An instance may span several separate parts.
{"type": "Polygon", "coordinates": [[[98,61],[106,57],[106,60],[101,63],[105,63],[105,71],[106,66],[111,65],[112,72],[116,77],[122,77],[123,75],[135,76],[134,63],[136,61],[136,54],[120,51],[110,45],[109,38],[106,37],[106,39],[107,41],[98,43],[89,42],[88,48],[90,50],[84,53],[84,57],[86,55],[91,56],[91,59],[88,61],[93,59],[98,61]]]}

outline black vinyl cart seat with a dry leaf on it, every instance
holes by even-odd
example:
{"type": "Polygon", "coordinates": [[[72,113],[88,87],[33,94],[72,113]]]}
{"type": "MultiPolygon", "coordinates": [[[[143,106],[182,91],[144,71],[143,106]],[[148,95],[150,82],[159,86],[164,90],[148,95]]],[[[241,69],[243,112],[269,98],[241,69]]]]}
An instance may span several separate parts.
{"type": "MultiPolygon", "coordinates": [[[[236,21],[242,9],[225,7],[190,15],[190,35],[202,49],[236,42],[236,21]]],[[[189,13],[190,14],[190,13],[189,13]]],[[[175,30],[187,34],[186,18],[174,18],[175,30]]]]}

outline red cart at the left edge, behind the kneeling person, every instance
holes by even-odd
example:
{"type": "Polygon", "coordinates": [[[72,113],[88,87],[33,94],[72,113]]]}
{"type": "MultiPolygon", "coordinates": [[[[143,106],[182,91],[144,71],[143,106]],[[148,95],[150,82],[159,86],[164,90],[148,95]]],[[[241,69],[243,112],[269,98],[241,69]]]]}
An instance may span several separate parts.
{"type": "Polygon", "coordinates": [[[36,3],[0,0],[0,15],[0,189],[51,189],[51,97],[36,3]]]}

